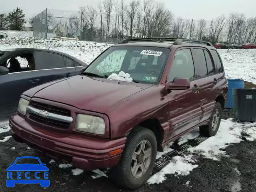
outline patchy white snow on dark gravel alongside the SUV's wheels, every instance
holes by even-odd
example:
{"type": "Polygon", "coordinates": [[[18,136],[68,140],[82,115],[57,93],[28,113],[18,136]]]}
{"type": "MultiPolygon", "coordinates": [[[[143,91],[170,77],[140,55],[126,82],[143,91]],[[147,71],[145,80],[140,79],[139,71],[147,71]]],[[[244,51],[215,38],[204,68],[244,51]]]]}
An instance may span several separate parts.
{"type": "MultiPolygon", "coordinates": [[[[216,136],[208,138],[196,147],[188,148],[185,152],[186,155],[173,157],[167,166],[149,178],[148,183],[159,184],[166,179],[166,174],[188,175],[190,171],[198,167],[199,163],[196,159],[199,155],[216,161],[220,160],[222,156],[226,156],[226,152],[221,149],[232,143],[241,142],[242,133],[244,133],[243,135],[249,135],[245,137],[246,140],[256,140],[256,123],[241,124],[234,122],[232,119],[222,119],[216,136]]],[[[198,129],[182,136],[179,140],[183,144],[184,140],[191,140],[196,136],[199,136],[198,129]]],[[[166,150],[169,150],[169,147],[166,150]]]]}

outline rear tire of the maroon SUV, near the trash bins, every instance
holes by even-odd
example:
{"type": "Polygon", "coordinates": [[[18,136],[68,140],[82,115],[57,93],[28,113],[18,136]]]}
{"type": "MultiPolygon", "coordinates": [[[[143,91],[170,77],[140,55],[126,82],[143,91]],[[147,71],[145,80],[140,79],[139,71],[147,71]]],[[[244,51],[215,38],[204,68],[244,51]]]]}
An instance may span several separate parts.
{"type": "Polygon", "coordinates": [[[221,121],[221,114],[222,114],[222,107],[220,103],[216,102],[214,106],[214,110],[210,116],[210,121],[208,122],[208,125],[200,126],[200,133],[204,136],[211,137],[216,135],[218,132],[218,129],[220,127],[220,121],[221,121]],[[215,117],[216,113],[218,113],[218,121],[215,117]],[[213,123],[215,121],[215,123],[213,123]]]}

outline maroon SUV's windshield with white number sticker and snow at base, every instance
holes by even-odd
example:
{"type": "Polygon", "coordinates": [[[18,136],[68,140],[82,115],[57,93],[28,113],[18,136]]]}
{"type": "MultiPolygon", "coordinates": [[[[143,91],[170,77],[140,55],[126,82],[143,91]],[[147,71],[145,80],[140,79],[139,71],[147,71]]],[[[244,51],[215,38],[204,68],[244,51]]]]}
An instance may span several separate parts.
{"type": "Polygon", "coordinates": [[[169,54],[168,48],[114,46],[94,60],[85,73],[107,78],[123,71],[135,82],[158,84],[169,54]]]}

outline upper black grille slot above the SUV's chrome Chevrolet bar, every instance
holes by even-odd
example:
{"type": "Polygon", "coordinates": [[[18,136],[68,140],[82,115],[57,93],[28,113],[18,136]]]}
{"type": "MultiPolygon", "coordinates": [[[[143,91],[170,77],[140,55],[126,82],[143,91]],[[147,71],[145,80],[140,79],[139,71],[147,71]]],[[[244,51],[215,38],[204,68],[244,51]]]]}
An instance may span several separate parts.
{"type": "Polygon", "coordinates": [[[54,114],[58,114],[58,115],[71,116],[71,112],[68,109],[64,109],[64,108],[36,102],[36,101],[30,101],[29,106],[32,106],[39,110],[48,111],[48,112],[51,112],[54,114]]]}

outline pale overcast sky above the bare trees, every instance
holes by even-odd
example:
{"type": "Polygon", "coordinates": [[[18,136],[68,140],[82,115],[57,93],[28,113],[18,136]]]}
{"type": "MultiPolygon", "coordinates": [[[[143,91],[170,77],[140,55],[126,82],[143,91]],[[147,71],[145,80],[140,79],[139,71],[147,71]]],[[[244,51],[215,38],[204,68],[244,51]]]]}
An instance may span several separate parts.
{"type": "MultiPolygon", "coordinates": [[[[78,10],[80,6],[95,5],[101,0],[1,0],[0,13],[20,7],[26,18],[40,13],[46,7],[62,10],[78,10]]],[[[129,0],[124,0],[128,2],[129,0]]],[[[142,1],[142,0],[141,0],[142,1]]],[[[205,19],[232,12],[244,13],[247,17],[256,16],[256,0],[155,0],[164,2],[175,16],[186,19],[205,19]]]]}

